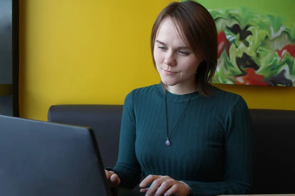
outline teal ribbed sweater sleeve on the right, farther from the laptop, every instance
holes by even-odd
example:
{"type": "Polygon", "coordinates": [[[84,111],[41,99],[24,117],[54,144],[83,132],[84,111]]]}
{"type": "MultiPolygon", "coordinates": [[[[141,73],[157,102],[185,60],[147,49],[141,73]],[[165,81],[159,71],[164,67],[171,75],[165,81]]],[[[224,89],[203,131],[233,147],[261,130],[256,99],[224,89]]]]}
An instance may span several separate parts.
{"type": "Polygon", "coordinates": [[[183,181],[192,196],[250,194],[252,183],[253,130],[249,109],[239,96],[228,113],[225,133],[223,181],[183,181]]]}

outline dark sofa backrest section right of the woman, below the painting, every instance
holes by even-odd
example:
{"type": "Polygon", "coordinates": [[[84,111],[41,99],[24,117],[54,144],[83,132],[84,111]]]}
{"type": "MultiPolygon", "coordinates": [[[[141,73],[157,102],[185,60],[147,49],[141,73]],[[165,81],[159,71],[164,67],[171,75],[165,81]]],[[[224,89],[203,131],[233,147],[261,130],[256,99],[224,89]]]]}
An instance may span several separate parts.
{"type": "Polygon", "coordinates": [[[250,109],[254,194],[295,193],[295,111],[250,109]]]}

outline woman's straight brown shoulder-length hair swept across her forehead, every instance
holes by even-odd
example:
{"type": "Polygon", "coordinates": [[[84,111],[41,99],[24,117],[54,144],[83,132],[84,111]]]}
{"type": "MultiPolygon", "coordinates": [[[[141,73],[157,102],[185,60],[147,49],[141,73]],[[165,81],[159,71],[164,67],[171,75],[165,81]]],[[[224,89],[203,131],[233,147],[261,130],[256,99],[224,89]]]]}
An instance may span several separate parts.
{"type": "Polygon", "coordinates": [[[150,36],[150,46],[153,64],[153,49],[156,34],[162,20],[170,17],[177,27],[183,41],[194,51],[194,54],[203,59],[196,73],[196,85],[200,94],[208,97],[213,94],[210,84],[217,66],[217,30],[214,19],[207,9],[195,1],[171,2],[158,15],[153,24],[150,36]]]}

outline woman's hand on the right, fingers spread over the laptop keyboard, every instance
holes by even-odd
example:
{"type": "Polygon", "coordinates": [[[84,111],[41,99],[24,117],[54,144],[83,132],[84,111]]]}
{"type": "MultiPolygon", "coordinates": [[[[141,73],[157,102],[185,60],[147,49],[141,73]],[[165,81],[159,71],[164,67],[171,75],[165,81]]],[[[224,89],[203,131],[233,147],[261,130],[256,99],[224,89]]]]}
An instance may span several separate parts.
{"type": "Polygon", "coordinates": [[[142,188],[140,192],[146,193],[146,196],[187,196],[190,192],[184,182],[162,175],[148,175],[139,186],[142,188]],[[145,188],[151,182],[150,187],[145,188]]]}

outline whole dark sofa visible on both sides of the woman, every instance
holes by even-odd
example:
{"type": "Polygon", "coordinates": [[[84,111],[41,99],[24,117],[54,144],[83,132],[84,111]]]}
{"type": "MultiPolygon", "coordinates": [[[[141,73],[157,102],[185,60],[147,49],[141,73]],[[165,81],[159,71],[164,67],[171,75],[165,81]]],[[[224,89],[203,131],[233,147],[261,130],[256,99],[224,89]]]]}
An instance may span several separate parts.
{"type": "MultiPolygon", "coordinates": [[[[105,167],[118,158],[122,105],[52,105],[48,121],[94,129],[105,167]]],[[[295,111],[250,109],[254,125],[251,194],[295,194],[295,111]]]]}

